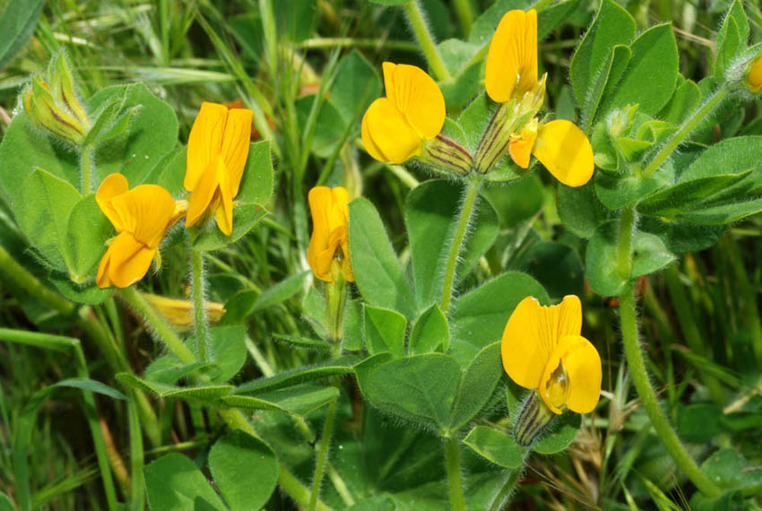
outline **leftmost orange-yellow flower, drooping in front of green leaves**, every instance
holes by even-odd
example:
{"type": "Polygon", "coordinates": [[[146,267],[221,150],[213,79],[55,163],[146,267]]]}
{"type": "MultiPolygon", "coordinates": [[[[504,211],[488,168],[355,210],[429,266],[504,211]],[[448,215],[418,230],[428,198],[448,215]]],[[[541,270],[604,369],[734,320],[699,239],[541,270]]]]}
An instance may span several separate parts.
{"type": "Polygon", "coordinates": [[[161,186],[128,187],[127,178],[111,174],[95,195],[100,211],[118,233],[100,259],[96,277],[100,288],[126,288],[141,280],[157,255],[164,232],[182,214],[161,186]]]}

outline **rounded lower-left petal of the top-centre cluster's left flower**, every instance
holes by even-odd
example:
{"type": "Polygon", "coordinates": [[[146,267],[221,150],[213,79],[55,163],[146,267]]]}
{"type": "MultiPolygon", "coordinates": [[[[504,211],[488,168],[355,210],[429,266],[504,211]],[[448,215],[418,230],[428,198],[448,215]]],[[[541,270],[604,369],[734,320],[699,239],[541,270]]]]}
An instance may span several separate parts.
{"type": "Polygon", "coordinates": [[[407,123],[392,101],[386,98],[375,100],[365,116],[368,136],[385,157],[382,161],[403,163],[420,153],[419,134],[407,123]]]}

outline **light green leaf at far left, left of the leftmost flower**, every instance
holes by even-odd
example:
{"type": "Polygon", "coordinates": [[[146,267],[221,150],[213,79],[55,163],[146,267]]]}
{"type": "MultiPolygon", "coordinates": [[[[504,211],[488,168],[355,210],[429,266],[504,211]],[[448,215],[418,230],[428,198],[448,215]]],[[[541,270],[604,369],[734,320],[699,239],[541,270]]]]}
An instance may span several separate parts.
{"type": "Polygon", "coordinates": [[[61,178],[43,169],[35,169],[15,191],[13,212],[19,227],[49,264],[71,272],[71,247],[68,221],[82,195],[61,178]]]}

